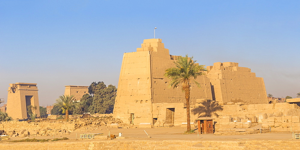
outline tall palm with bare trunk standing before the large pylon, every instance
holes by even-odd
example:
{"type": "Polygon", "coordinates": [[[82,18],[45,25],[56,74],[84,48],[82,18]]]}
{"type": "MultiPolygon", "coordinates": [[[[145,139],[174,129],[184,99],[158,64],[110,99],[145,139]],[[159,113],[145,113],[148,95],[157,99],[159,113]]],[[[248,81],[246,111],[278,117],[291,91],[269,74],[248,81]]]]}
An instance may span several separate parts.
{"type": "Polygon", "coordinates": [[[186,107],[187,107],[187,132],[190,132],[190,83],[194,82],[199,88],[200,84],[195,79],[203,75],[206,69],[204,65],[199,65],[196,61],[192,60],[193,57],[179,56],[174,62],[175,67],[166,69],[165,76],[172,79],[169,86],[173,88],[179,84],[182,85],[182,90],[185,92],[186,107]]]}

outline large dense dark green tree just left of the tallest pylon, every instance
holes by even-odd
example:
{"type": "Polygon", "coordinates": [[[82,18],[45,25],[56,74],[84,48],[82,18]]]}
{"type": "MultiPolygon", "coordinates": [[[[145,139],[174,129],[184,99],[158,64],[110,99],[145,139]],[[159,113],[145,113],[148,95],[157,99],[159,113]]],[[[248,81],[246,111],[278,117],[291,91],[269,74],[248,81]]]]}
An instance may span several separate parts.
{"type": "MultiPolygon", "coordinates": [[[[91,106],[88,107],[90,113],[112,113],[115,104],[117,88],[113,85],[106,85],[104,82],[93,82],[89,86],[89,93],[93,97],[91,106]]],[[[87,101],[90,104],[91,101],[87,101]]]]}

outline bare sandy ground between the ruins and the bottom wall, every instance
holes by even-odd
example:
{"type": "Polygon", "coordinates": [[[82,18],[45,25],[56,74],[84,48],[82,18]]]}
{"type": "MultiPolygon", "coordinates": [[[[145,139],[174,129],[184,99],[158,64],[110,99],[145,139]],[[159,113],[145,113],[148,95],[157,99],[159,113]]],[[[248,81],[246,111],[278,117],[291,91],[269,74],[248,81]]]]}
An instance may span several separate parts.
{"type": "MultiPolygon", "coordinates": [[[[194,128],[196,129],[196,128],[194,128]]],[[[81,129],[82,130],[82,129],[81,129]]],[[[60,135],[54,135],[54,138],[62,138],[67,137],[70,140],[79,139],[79,134],[85,134],[85,133],[103,133],[104,135],[114,134],[119,135],[119,133],[122,133],[123,137],[127,137],[126,139],[114,139],[114,140],[237,140],[237,139],[245,139],[245,140],[289,140],[292,139],[292,134],[288,132],[283,133],[263,133],[263,134],[241,134],[241,135],[214,135],[214,134],[199,134],[196,133],[193,134],[184,134],[184,131],[186,131],[186,128],[176,126],[171,128],[107,128],[106,126],[100,127],[100,128],[90,128],[88,129],[90,131],[80,131],[75,130],[69,135],[66,134],[60,134],[60,135]],[[148,135],[151,136],[151,138],[148,138],[148,135]]],[[[49,136],[36,136],[36,135],[30,135],[29,137],[24,138],[37,138],[37,139],[53,139],[53,134],[49,136]]],[[[24,139],[21,137],[11,137],[11,140],[20,140],[24,139]]],[[[82,139],[80,139],[82,140],[82,139]]],[[[85,139],[84,139],[85,140],[85,139]]],[[[5,142],[9,142],[10,140],[7,140],[5,142]]],[[[4,142],[4,141],[2,141],[4,142]]]]}

